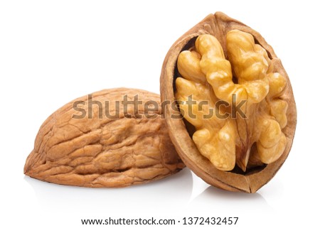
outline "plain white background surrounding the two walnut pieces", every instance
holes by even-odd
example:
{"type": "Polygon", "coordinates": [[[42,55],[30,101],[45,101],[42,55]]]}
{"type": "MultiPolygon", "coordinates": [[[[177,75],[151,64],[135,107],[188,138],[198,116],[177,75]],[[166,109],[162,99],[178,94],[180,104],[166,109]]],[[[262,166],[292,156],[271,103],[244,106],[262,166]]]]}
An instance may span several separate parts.
{"type": "Polygon", "coordinates": [[[239,217],[231,227],[316,227],[320,18],[315,2],[0,1],[0,226],[82,227],[80,219],[220,216],[239,217]],[[124,189],[68,187],[23,175],[38,129],[52,112],[105,88],[159,93],[170,46],[215,11],[259,31],[292,82],[297,132],[287,161],[270,183],[249,195],[209,187],[188,169],[124,189]]]}

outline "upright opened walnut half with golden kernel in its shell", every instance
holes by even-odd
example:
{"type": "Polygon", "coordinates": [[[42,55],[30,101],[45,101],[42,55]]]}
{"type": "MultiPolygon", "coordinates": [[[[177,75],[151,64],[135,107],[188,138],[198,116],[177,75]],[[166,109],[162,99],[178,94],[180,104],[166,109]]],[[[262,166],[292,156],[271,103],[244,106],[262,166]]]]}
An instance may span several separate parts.
{"type": "Polygon", "coordinates": [[[284,163],[297,111],[282,64],[259,33],[223,13],[209,15],[166,55],[161,99],[184,163],[210,185],[256,192],[284,163]]]}

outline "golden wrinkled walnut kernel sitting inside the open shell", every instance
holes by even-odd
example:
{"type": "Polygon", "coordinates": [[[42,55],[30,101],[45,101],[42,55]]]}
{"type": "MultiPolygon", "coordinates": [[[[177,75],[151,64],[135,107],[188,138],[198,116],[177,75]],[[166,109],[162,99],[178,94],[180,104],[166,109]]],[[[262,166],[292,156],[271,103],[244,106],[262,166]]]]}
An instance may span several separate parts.
{"type": "Polygon", "coordinates": [[[232,30],[226,40],[230,61],[225,59],[219,41],[208,34],[198,36],[196,50],[184,50],[178,55],[182,77],[176,79],[176,99],[181,103],[183,117],[196,127],[193,141],[201,154],[220,170],[233,170],[237,163],[245,171],[250,156],[268,164],[284,151],[287,139],[282,129],[287,125],[287,102],[279,96],[286,79],[273,72],[266,50],[255,44],[250,33],[232,30]],[[196,116],[188,112],[186,104],[193,94],[196,102],[191,110],[196,116]],[[203,101],[207,104],[201,104],[203,101]],[[221,101],[225,102],[227,114],[214,115],[220,112],[217,104],[221,101]],[[243,115],[232,116],[234,107],[230,104],[240,102],[245,104],[243,115]],[[212,110],[212,116],[208,110],[212,110]],[[254,143],[255,151],[251,149],[254,143]]]}

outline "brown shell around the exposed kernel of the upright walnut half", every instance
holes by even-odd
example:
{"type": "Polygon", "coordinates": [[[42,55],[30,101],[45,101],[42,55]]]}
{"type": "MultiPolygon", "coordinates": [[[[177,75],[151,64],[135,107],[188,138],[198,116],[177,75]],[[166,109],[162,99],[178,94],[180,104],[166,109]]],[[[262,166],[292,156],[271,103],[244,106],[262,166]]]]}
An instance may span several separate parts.
{"type": "Polygon", "coordinates": [[[185,50],[186,47],[190,45],[190,41],[194,40],[199,35],[208,33],[218,38],[225,51],[226,43],[223,37],[228,31],[233,29],[252,34],[256,43],[259,43],[267,50],[270,59],[272,59],[274,63],[274,69],[284,75],[287,79],[287,89],[282,95],[282,99],[288,103],[287,126],[283,129],[283,132],[287,137],[287,146],[282,156],[274,163],[265,165],[265,167],[260,169],[252,170],[249,173],[245,173],[245,175],[218,170],[198,151],[198,148],[195,143],[193,143],[193,140],[186,129],[183,119],[170,118],[171,114],[174,114],[174,110],[169,106],[166,106],[164,112],[166,114],[166,124],[168,125],[169,136],[176,147],[176,151],[178,151],[178,155],[188,168],[191,168],[191,170],[196,173],[196,175],[206,181],[206,183],[224,190],[234,192],[256,192],[274,177],[287,159],[292,147],[294,132],[297,125],[297,108],[287,72],[284,70],[281,60],[277,58],[272,47],[267,44],[260,33],[257,33],[257,31],[254,31],[240,21],[226,16],[224,13],[217,12],[208,15],[203,21],[183,34],[181,38],[178,38],[167,53],[160,78],[161,102],[176,101],[174,96],[176,60],[178,54],[181,53],[181,50],[185,50]]]}

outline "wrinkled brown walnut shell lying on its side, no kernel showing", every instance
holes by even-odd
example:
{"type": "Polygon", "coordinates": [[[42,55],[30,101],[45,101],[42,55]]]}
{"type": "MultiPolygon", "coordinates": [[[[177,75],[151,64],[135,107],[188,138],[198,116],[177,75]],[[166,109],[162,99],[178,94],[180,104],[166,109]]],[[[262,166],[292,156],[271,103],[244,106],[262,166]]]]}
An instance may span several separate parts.
{"type": "MultiPolygon", "coordinates": [[[[184,168],[171,143],[161,107],[144,115],[144,103],[160,104],[159,95],[139,89],[105,89],[92,94],[92,118],[75,119],[81,112],[73,104],[88,110],[88,97],[65,104],[43,123],[36,136],[35,146],[26,160],[26,175],[50,183],[78,185],[90,188],[125,187],[159,180],[184,168]],[[124,117],[121,101],[139,96],[139,109],[129,105],[124,117]],[[109,101],[106,107],[105,101],[109,101]],[[119,101],[119,108],[116,102],[119,101]],[[119,110],[119,118],[107,118],[119,110]],[[142,114],[135,117],[135,114],[142,114]]],[[[87,113],[88,114],[88,113],[87,113]]],[[[137,115],[136,115],[137,116],[137,115]]]]}

